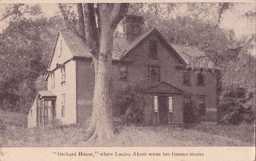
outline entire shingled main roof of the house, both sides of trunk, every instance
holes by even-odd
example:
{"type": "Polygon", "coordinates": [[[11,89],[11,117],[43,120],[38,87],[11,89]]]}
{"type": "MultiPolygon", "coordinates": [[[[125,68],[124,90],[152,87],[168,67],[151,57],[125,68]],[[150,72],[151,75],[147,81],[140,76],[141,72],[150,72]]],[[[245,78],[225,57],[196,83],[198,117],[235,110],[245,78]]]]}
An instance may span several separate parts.
{"type": "MultiPolygon", "coordinates": [[[[137,37],[132,43],[128,43],[128,41],[121,37],[113,38],[113,49],[112,49],[112,60],[122,60],[125,56],[127,56],[130,51],[143,42],[148,36],[156,33],[160,40],[166,45],[173,53],[174,56],[180,60],[181,64],[193,66],[195,64],[195,58],[197,59],[197,67],[203,68],[213,68],[213,62],[205,57],[204,53],[200,52],[195,46],[184,46],[178,44],[169,44],[166,39],[162,36],[160,32],[156,28],[140,35],[137,37]],[[193,61],[192,61],[193,60],[193,61]],[[198,61],[199,60],[199,61],[198,61]]],[[[71,31],[60,31],[58,34],[62,35],[64,41],[66,42],[68,48],[70,49],[73,56],[77,57],[92,57],[92,54],[86,49],[82,40],[80,40],[76,34],[71,31]]],[[[58,38],[57,38],[58,39],[58,38]]],[[[56,40],[57,42],[57,40],[56,40]]],[[[55,44],[56,47],[56,44],[55,44]]],[[[55,51],[55,48],[54,48],[55,51]]],[[[53,51],[53,53],[54,53],[53,51]]],[[[51,60],[52,61],[52,60],[51,60]]],[[[51,64],[51,62],[50,62],[51,64]]],[[[50,65],[49,65],[50,67],[50,65]]]]}

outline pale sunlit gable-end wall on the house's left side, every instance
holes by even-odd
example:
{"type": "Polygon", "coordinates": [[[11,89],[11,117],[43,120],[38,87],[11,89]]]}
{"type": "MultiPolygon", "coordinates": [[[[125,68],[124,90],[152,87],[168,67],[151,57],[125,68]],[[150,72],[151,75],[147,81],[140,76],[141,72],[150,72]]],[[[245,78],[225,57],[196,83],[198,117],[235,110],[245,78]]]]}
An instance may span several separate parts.
{"type": "Polygon", "coordinates": [[[60,52],[60,40],[61,35],[57,41],[56,49],[53,55],[52,64],[50,70],[54,72],[55,87],[51,86],[51,75],[48,77],[47,89],[56,94],[56,119],[62,124],[76,123],[76,60],[71,58],[72,54],[68,49],[65,41],[62,41],[62,54],[60,52]],[[69,61],[67,61],[69,60],[69,61]],[[56,64],[65,63],[65,86],[61,85],[61,69],[56,68],[56,64]],[[65,116],[61,116],[61,96],[65,94],[65,116]]]}

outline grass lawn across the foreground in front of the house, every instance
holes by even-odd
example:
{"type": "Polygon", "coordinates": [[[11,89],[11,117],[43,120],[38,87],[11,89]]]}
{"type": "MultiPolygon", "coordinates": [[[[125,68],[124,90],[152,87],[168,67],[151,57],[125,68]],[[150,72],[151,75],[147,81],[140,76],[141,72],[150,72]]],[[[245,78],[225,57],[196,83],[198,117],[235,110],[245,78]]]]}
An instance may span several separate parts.
{"type": "MultiPolygon", "coordinates": [[[[202,126],[202,125],[201,125],[202,126]]],[[[27,129],[6,125],[0,147],[175,147],[175,146],[255,146],[254,125],[215,125],[193,129],[168,126],[123,126],[111,141],[84,141],[83,126],[27,129]]]]}

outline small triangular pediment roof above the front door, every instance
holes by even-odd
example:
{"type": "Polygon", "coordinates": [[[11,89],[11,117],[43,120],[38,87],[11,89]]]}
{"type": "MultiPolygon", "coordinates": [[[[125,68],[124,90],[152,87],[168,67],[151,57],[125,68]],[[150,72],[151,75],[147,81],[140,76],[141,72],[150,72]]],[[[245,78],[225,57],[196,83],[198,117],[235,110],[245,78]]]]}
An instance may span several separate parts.
{"type": "Polygon", "coordinates": [[[168,84],[164,81],[159,82],[155,85],[151,85],[145,90],[146,92],[152,92],[152,93],[168,93],[168,94],[182,94],[183,91],[179,88],[176,88],[172,86],[171,84],[168,84]]]}

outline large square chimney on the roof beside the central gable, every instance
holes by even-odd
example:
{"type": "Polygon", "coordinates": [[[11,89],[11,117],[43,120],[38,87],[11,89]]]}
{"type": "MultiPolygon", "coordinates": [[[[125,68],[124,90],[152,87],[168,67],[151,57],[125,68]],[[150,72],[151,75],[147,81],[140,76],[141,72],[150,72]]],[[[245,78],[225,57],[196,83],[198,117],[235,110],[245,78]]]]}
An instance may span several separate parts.
{"type": "Polygon", "coordinates": [[[142,16],[126,14],[123,20],[124,38],[131,43],[138,36],[142,35],[144,20],[142,16]]]}

